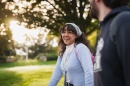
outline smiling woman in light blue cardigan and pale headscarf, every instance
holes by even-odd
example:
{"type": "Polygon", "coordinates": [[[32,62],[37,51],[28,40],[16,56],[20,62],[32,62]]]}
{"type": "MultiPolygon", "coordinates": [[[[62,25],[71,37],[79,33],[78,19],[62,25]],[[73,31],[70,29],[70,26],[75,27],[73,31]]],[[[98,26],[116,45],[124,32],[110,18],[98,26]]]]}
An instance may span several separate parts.
{"type": "Polygon", "coordinates": [[[93,63],[85,37],[74,23],[60,30],[59,57],[48,86],[56,86],[62,75],[64,86],[93,86],[93,63]]]}

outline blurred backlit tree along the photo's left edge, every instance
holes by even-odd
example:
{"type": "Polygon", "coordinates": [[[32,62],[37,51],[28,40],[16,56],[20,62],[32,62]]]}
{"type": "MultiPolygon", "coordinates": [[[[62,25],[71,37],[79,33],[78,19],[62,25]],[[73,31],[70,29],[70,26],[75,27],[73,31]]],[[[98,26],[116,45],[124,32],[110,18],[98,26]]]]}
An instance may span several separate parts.
{"type": "Polygon", "coordinates": [[[0,55],[9,55],[14,52],[14,41],[9,23],[14,18],[14,13],[7,10],[7,3],[0,1],[0,55]]]}

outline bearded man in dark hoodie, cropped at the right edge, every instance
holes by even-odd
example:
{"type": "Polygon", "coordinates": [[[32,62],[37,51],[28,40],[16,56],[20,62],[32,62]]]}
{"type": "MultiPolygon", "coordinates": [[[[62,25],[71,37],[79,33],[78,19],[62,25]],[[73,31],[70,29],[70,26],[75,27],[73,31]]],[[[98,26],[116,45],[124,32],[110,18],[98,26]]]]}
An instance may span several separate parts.
{"type": "Polygon", "coordinates": [[[130,86],[129,2],[90,0],[91,16],[100,21],[94,63],[95,86],[130,86]]]}

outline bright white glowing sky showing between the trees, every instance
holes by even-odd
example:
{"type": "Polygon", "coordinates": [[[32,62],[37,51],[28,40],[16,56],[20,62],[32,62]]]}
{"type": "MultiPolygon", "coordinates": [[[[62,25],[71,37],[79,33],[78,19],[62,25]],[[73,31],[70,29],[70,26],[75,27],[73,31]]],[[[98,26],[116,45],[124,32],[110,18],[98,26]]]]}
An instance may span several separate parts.
{"type": "MultiPolygon", "coordinates": [[[[12,30],[13,33],[13,39],[18,43],[18,44],[24,44],[26,42],[26,34],[28,36],[37,38],[38,33],[40,29],[27,29],[24,26],[19,26],[18,21],[11,21],[10,22],[10,29],[12,30]]],[[[45,38],[48,33],[43,32],[44,38],[43,42],[46,41],[45,38]]],[[[56,39],[53,40],[53,47],[57,46],[56,39]]],[[[31,45],[31,43],[28,42],[28,45],[31,45]]]]}

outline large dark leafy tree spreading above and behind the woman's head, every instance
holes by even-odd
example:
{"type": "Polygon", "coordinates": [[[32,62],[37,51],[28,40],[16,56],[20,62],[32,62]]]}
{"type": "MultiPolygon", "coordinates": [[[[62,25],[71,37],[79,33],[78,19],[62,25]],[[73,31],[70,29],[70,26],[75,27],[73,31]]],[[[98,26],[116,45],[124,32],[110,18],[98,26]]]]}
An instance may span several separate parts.
{"type": "Polygon", "coordinates": [[[10,4],[14,5],[10,10],[17,10],[15,15],[28,28],[46,27],[50,34],[59,35],[58,30],[63,24],[74,22],[86,35],[96,29],[89,16],[89,0],[19,0],[10,4]],[[23,7],[20,8],[18,3],[23,7]]]}

